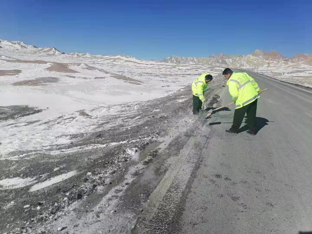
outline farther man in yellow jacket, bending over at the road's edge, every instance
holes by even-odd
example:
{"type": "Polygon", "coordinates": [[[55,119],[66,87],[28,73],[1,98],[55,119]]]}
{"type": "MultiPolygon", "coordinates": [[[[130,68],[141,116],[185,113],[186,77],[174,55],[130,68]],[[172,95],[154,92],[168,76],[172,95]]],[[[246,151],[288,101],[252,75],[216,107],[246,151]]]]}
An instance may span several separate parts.
{"type": "Polygon", "coordinates": [[[201,74],[193,81],[193,115],[198,115],[199,110],[202,109],[202,103],[205,101],[204,91],[210,81],[212,81],[212,75],[208,72],[201,74]]]}

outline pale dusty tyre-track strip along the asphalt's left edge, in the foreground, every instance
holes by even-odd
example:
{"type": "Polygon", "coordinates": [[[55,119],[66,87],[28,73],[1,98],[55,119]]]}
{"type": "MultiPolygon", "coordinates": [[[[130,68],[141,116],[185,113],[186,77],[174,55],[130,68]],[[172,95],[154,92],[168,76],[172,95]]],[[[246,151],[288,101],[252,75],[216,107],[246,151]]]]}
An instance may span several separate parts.
{"type": "MultiPolygon", "coordinates": [[[[209,134],[209,133],[205,133],[209,134]]],[[[132,233],[172,233],[173,219],[181,213],[180,203],[196,169],[200,149],[205,145],[204,135],[191,136],[168,169],[146,204],[141,219],[132,233]]]]}

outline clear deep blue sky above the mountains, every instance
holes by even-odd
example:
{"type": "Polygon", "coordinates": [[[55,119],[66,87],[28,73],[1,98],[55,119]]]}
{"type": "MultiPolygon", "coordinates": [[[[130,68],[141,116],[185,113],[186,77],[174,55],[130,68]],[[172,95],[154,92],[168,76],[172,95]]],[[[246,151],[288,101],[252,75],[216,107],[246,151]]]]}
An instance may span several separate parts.
{"type": "Polygon", "coordinates": [[[144,59],[312,53],[312,1],[1,1],[0,38],[144,59]]]}

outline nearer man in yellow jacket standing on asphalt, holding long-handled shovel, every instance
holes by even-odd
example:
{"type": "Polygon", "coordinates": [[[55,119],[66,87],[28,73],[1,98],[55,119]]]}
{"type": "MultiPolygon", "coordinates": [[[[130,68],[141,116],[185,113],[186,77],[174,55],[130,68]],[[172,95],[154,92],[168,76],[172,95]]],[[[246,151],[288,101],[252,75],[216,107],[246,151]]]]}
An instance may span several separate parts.
{"type": "Polygon", "coordinates": [[[230,68],[226,68],[222,75],[227,79],[229,93],[236,103],[232,127],[226,132],[237,134],[244,116],[247,114],[249,127],[247,133],[256,135],[257,99],[260,97],[258,94],[260,88],[257,82],[246,72],[233,72],[230,68]]]}

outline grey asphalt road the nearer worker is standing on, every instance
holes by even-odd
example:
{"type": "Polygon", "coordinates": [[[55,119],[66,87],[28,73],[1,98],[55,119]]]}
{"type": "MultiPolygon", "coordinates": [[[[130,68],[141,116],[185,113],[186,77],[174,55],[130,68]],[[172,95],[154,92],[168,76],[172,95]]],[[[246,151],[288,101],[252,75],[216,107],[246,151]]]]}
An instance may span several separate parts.
{"type": "MultiPolygon", "coordinates": [[[[247,73],[268,88],[259,131],[227,134],[233,106],[206,121],[209,139],[175,232],[312,233],[312,91],[247,73]]],[[[230,102],[224,88],[217,105],[230,102]]]]}

